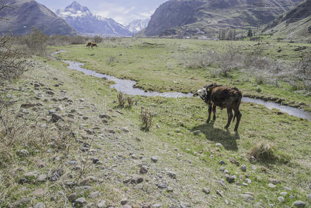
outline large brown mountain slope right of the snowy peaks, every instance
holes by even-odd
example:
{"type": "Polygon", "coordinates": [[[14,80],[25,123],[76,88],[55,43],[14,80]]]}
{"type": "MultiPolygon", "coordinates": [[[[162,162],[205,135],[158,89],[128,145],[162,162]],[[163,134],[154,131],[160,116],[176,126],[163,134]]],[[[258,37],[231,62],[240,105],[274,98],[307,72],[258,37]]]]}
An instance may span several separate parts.
{"type": "Polygon", "coordinates": [[[152,15],[145,35],[213,33],[220,28],[268,24],[302,0],[170,0],[152,15]]]}

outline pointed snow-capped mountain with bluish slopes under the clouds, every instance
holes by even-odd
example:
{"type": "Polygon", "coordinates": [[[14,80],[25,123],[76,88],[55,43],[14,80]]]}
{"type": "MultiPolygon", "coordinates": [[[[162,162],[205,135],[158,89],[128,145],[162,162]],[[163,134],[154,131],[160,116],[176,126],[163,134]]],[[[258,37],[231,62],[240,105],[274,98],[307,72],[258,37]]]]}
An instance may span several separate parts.
{"type": "Polygon", "coordinates": [[[118,24],[111,18],[104,18],[94,15],[89,8],[81,6],[77,1],[64,10],[57,10],[57,15],[66,20],[66,22],[75,28],[78,33],[98,34],[98,35],[132,35],[125,26],[118,24]]]}

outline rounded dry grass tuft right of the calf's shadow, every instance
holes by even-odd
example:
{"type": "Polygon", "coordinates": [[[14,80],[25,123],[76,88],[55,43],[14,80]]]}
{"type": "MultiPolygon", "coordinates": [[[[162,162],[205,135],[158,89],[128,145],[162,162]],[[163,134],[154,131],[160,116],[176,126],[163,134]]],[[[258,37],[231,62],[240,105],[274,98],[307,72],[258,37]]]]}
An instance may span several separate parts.
{"type": "Polygon", "coordinates": [[[260,142],[249,152],[251,160],[269,162],[276,159],[274,147],[269,142],[260,142]]]}

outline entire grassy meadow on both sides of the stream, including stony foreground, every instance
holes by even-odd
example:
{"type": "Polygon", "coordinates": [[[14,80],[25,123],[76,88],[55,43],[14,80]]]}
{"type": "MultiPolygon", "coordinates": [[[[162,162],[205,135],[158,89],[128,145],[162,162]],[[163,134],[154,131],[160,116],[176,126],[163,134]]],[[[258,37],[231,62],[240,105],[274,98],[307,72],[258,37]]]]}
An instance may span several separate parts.
{"type": "MultiPolygon", "coordinates": [[[[96,49],[54,46],[50,51],[66,50],[57,58],[136,80],[136,87],[145,90],[194,92],[206,83],[220,83],[310,110],[310,95],[295,93],[301,90],[285,81],[259,85],[250,71],[238,68],[220,76],[213,60],[207,67],[187,67],[192,55],[225,53],[228,45],[242,53],[256,51],[255,42],[155,39],[105,40],[96,49]]],[[[300,53],[294,51],[299,46],[310,49],[308,44],[271,42],[263,44],[260,54],[292,62],[299,60],[300,53]]],[[[46,207],[99,207],[104,201],[103,207],[121,207],[124,198],[133,207],[292,207],[297,200],[311,205],[310,121],[242,103],[240,127],[234,132],[235,123],[224,129],[226,110],[217,108],[216,121],[205,123],[208,107],[199,98],[130,96],[136,105],[120,107],[111,84],[45,57],[34,58],[32,69],[6,84],[2,90],[16,100],[12,112],[21,114],[17,121],[23,125],[12,137],[3,137],[0,148],[1,207],[23,198],[27,202],[15,207],[37,202],[46,207]],[[21,104],[38,102],[21,110],[21,104]],[[152,112],[149,131],[141,129],[141,107],[152,112]],[[49,110],[62,119],[51,122],[49,110]],[[43,124],[44,137],[37,128],[43,124]],[[251,157],[258,144],[267,144],[269,155],[251,157]],[[27,157],[17,154],[21,149],[28,150],[27,157]],[[157,162],[150,160],[154,156],[157,162]],[[240,168],[243,164],[246,171],[240,168]],[[140,173],[141,166],[148,173],[140,173]],[[51,180],[59,169],[59,179],[51,180]],[[38,182],[33,172],[46,174],[46,180],[38,182]],[[133,175],[141,175],[143,182],[128,182],[133,175]],[[226,175],[235,175],[234,182],[226,175]],[[80,197],[87,202],[78,204],[80,197]]],[[[5,129],[0,130],[4,135],[5,129]]]]}

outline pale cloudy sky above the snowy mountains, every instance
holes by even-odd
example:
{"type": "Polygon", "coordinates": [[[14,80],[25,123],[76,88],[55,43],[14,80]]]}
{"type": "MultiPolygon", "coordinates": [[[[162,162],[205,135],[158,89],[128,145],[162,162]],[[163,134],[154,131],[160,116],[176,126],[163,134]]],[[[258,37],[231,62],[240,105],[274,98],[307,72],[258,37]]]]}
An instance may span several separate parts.
{"type": "MultiPolygon", "coordinates": [[[[73,0],[37,1],[55,11],[69,6],[73,0]]],[[[168,0],[78,0],[78,3],[87,6],[96,15],[127,24],[135,19],[150,18],[154,10],[166,1],[168,0]]]]}

